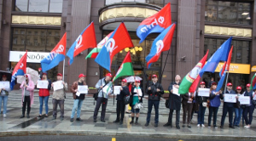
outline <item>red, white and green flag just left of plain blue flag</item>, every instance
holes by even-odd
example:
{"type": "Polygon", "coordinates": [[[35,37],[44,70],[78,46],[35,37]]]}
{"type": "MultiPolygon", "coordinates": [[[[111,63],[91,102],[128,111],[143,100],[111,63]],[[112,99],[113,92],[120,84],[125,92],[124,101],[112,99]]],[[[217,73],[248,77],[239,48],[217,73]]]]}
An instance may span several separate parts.
{"type": "Polygon", "coordinates": [[[201,77],[199,76],[199,72],[201,71],[201,68],[203,68],[203,66],[206,64],[208,52],[209,50],[207,50],[207,54],[205,54],[205,56],[195,65],[195,67],[189,71],[186,76],[184,76],[183,81],[178,88],[178,93],[186,94],[188,92],[195,92],[201,77]]]}

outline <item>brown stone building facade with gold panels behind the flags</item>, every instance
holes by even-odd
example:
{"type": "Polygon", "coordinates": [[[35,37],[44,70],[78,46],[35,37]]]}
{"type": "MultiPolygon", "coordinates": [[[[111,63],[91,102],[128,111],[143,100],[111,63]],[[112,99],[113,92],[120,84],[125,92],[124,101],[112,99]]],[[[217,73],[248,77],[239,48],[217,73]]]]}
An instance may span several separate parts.
{"type": "MultiPolygon", "coordinates": [[[[40,60],[55,48],[65,32],[68,50],[91,21],[95,23],[97,42],[124,21],[134,47],[115,55],[113,74],[130,51],[135,74],[143,77],[143,87],[152,74],[157,74],[167,90],[174,77],[185,76],[207,49],[209,59],[232,36],[234,50],[229,82],[244,87],[256,68],[256,55],[253,55],[256,54],[255,6],[254,0],[0,0],[0,70],[14,68],[26,50],[29,53],[27,66],[38,70],[40,60]],[[137,26],[166,3],[171,3],[172,23],[177,22],[172,47],[147,69],[145,57],[159,34],[151,34],[139,44],[137,26]]],[[[94,59],[85,59],[90,50],[75,57],[73,65],[68,65],[66,57],[64,67],[61,62],[49,71],[49,77],[54,80],[56,73],[62,73],[64,68],[68,84],[84,73],[89,87],[95,87],[107,71],[94,59]]],[[[213,77],[217,82],[222,65],[218,65],[215,73],[204,74],[203,79],[209,82],[213,77]]],[[[116,85],[118,82],[120,80],[116,85]]]]}

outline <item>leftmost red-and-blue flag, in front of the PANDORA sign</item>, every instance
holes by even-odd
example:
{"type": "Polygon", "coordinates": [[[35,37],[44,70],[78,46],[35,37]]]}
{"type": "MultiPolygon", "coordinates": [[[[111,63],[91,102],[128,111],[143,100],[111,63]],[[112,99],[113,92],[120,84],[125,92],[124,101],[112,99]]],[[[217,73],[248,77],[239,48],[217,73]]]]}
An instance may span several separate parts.
{"type": "Polygon", "coordinates": [[[13,90],[15,87],[15,80],[17,76],[24,76],[26,74],[26,57],[27,52],[21,57],[20,61],[15,66],[15,70],[12,74],[12,80],[10,83],[10,89],[13,90]]]}

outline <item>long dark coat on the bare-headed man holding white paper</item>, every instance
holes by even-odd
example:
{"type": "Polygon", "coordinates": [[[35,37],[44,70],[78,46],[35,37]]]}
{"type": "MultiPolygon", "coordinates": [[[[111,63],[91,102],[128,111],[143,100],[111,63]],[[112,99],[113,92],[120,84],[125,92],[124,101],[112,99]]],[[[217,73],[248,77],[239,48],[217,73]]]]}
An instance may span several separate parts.
{"type": "Polygon", "coordinates": [[[171,93],[172,86],[174,84],[180,85],[180,82],[179,83],[171,82],[170,86],[168,87],[168,90],[170,92],[170,95],[169,95],[169,109],[170,110],[180,110],[180,108],[181,108],[181,97],[178,96],[177,94],[171,93]]]}

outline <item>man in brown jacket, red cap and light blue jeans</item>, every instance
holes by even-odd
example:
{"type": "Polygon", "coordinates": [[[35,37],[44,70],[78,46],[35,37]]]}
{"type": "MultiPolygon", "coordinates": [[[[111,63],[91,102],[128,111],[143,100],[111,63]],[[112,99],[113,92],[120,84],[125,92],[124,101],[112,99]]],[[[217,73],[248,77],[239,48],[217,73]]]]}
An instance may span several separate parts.
{"type": "Polygon", "coordinates": [[[79,93],[78,87],[84,86],[85,83],[85,76],[84,74],[79,75],[79,81],[73,82],[73,85],[71,86],[71,92],[73,93],[73,109],[70,116],[70,121],[73,122],[73,116],[75,115],[75,112],[77,110],[77,119],[76,121],[83,121],[80,117],[81,113],[81,107],[83,105],[84,99],[85,99],[85,93],[79,93]]]}

